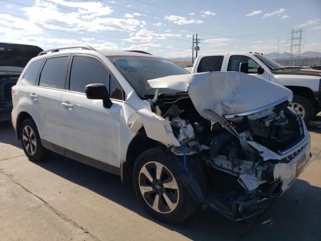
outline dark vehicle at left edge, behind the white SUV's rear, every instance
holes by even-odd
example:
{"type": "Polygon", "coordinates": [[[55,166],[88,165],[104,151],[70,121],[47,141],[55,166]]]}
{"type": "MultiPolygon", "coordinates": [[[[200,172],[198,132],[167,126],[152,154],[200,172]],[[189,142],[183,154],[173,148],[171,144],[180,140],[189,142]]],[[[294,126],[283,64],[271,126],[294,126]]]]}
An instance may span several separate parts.
{"type": "Polygon", "coordinates": [[[0,121],[11,119],[11,87],[29,60],[41,51],[43,49],[33,45],[0,43],[0,121]]]}

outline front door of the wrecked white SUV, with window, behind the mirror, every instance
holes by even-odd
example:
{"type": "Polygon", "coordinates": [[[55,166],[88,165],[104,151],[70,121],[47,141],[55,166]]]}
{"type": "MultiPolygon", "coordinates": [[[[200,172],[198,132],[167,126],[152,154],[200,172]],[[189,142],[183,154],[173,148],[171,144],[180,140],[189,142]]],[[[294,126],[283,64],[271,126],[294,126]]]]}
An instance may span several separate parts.
{"type": "Polygon", "coordinates": [[[68,77],[67,90],[61,98],[66,155],[77,155],[79,160],[78,154],[81,154],[119,167],[119,112],[124,102],[123,89],[104,63],[94,56],[74,55],[68,77]],[[113,103],[110,108],[104,108],[102,100],[87,99],[85,86],[92,83],[107,87],[113,103]],[[120,91],[113,91],[115,89],[120,91]]]}

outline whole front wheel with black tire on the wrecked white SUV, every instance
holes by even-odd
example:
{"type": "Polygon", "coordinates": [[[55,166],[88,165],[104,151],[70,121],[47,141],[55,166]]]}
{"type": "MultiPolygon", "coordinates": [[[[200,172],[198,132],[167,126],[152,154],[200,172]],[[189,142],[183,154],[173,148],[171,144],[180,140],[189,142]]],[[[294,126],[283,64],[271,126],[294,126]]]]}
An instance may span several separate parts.
{"type": "Polygon", "coordinates": [[[161,221],[178,223],[196,210],[194,200],[159,148],[151,148],[140,154],[133,166],[132,182],[145,210],[161,221]],[[162,170],[159,181],[156,179],[157,168],[162,170]],[[158,205],[154,206],[157,196],[158,205]]]}

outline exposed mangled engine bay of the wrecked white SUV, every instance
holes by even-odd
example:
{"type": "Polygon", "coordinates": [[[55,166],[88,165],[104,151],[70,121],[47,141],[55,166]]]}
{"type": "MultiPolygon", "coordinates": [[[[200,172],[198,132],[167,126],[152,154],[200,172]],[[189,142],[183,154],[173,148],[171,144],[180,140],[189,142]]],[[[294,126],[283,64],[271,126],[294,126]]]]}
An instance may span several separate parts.
{"type": "Polygon", "coordinates": [[[232,218],[237,219],[247,215],[240,203],[245,206],[282,192],[282,180],[274,175],[274,167],[293,157],[265,160],[253,143],[281,155],[303,139],[300,117],[288,104],[284,101],[264,111],[225,119],[223,125],[202,117],[187,93],[159,96],[152,111],[169,120],[181,145],[169,146],[169,150],[176,156],[193,156],[204,166],[207,189],[215,197],[209,204],[222,212],[224,203],[234,201],[238,210],[232,218]]]}

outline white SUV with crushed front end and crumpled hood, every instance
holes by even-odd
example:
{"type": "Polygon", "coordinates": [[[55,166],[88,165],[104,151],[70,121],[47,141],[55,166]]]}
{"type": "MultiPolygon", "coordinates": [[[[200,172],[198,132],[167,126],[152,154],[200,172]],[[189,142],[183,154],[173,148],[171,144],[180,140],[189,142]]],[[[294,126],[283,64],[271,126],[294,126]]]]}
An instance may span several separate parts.
{"type": "Polygon", "coordinates": [[[231,220],[260,213],[311,160],[292,92],[241,72],[75,46],[33,58],[12,95],[31,161],[53,151],[120,175],[166,222],[200,206],[231,220]]]}

